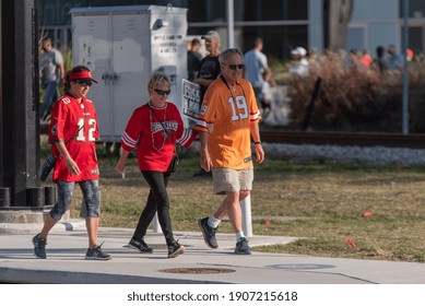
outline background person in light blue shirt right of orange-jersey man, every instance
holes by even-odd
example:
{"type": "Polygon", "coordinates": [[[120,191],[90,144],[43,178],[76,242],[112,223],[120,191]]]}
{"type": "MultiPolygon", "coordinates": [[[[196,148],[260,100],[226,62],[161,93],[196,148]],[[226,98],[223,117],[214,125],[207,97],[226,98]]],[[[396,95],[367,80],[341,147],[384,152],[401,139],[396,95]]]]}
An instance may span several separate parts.
{"type": "Polygon", "coordinates": [[[270,104],[267,105],[262,95],[264,84],[264,72],[270,70],[267,56],[261,52],[263,48],[263,42],[261,38],[256,38],[252,49],[244,55],[245,64],[245,78],[251,83],[253,92],[256,94],[258,107],[265,110],[270,108],[270,104]]]}

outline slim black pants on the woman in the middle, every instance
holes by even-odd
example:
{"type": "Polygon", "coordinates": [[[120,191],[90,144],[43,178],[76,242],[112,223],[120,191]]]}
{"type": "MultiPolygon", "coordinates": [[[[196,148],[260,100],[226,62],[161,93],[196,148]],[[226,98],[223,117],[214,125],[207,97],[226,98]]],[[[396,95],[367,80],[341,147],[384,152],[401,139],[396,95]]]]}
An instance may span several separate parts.
{"type": "Polygon", "coordinates": [[[155,212],[158,213],[158,221],[167,246],[174,240],[172,219],[169,216],[169,199],[167,185],[170,173],[162,172],[142,172],[151,190],[147,196],[147,202],[140,215],[138,226],[135,227],[133,238],[142,239],[146,235],[147,226],[151,224],[155,212]]]}

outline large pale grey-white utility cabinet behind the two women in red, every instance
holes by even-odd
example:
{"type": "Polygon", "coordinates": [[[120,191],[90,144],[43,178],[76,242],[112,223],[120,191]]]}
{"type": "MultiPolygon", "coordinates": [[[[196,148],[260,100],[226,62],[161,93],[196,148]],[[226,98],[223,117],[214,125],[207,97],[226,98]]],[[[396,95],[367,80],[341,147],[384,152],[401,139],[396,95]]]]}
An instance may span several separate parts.
{"type": "Polygon", "coordinates": [[[181,111],[187,9],[93,7],[71,9],[70,13],[72,64],[88,67],[98,81],[87,96],[96,105],[102,141],[120,141],[132,111],[150,99],[147,82],[153,71],[170,76],[168,101],[181,111]]]}

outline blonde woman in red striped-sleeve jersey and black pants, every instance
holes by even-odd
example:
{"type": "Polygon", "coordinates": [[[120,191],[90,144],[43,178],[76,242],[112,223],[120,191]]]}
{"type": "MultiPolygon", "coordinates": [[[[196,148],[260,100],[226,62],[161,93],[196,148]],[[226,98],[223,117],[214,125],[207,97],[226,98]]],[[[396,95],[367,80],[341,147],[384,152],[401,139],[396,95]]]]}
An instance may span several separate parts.
{"type": "Polygon", "coordinates": [[[119,173],[125,172],[129,153],[137,148],[139,169],[151,187],[133,237],[128,247],[141,252],[152,252],[144,242],[149,224],[158,214],[161,228],[168,247],[168,257],[174,258],[185,251],[173,235],[169,216],[167,184],[172,175],[169,165],[176,151],[176,142],[189,148],[197,133],[184,127],[178,108],[167,102],[172,82],[163,72],[154,72],[147,84],[151,99],[137,108],[121,137],[122,153],[117,164],[119,173]]]}

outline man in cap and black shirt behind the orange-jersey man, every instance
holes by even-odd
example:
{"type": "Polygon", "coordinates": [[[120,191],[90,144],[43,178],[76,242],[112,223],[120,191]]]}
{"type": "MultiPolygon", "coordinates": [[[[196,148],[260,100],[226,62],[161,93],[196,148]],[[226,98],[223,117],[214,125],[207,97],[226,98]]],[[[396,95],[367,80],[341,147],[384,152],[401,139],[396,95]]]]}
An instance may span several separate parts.
{"type": "MultiPolygon", "coordinates": [[[[214,82],[221,72],[219,61],[221,40],[219,33],[215,31],[210,31],[202,36],[202,39],[205,39],[205,49],[208,55],[201,60],[199,75],[193,80],[194,83],[200,85],[200,106],[208,87],[212,82],[214,82]]],[[[211,176],[211,173],[208,173],[201,168],[193,176],[211,176]]]]}

